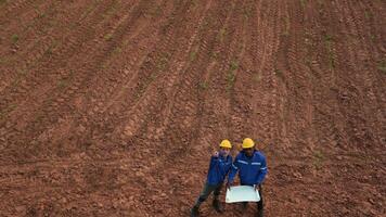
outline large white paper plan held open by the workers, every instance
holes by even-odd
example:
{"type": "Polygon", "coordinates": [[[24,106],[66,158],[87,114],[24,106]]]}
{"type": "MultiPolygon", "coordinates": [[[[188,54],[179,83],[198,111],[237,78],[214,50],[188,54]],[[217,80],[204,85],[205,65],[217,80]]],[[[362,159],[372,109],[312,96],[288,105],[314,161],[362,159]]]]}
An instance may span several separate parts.
{"type": "Polygon", "coordinates": [[[231,187],[231,190],[227,189],[226,203],[258,201],[260,201],[260,196],[258,191],[255,191],[254,187],[239,186],[231,187]]]}

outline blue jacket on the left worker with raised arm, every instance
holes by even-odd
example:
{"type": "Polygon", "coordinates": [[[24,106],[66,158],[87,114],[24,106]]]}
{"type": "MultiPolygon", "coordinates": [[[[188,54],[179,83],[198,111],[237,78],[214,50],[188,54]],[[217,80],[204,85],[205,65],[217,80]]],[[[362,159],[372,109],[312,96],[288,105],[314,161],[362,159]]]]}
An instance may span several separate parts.
{"type": "Polygon", "coordinates": [[[218,184],[223,182],[232,166],[232,156],[211,156],[208,169],[207,182],[218,184]]]}

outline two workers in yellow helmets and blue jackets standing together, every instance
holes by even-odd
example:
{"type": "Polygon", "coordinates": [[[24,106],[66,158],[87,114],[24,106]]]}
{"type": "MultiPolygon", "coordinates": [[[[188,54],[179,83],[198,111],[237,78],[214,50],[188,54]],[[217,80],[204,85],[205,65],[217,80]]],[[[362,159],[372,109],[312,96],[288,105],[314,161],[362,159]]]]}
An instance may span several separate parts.
{"type": "MultiPolygon", "coordinates": [[[[215,151],[210,157],[207,180],[203,191],[191,209],[191,217],[197,217],[200,215],[200,205],[206,201],[211,192],[214,193],[214,208],[218,213],[222,213],[223,210],[219,201],[221,188],[228,175],[228,182],[226,186],[227,189],[230,189],[237,171],[240,183],[242,186],[253,186],[255,190],[259,190],[260,201],[257,203],[256,216],[263,216],[261,183],[267,174],[266,157],[261,152],[255,149],[255,142],[250,138],[243,140],[242,148],[242,151],[236,155],[232,163],[232,156],[230,155],[232,144],[229,140],[221,141],[219,151],[215,151]]],[[[244,208],[246,208],[246,202],[243,203],[244,208]]]]}

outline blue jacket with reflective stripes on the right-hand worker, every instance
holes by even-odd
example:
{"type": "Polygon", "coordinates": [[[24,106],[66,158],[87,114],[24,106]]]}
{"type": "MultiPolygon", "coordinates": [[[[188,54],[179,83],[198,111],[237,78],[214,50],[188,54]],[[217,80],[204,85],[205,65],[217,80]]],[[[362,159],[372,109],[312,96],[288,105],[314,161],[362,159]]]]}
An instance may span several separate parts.
{"type": "Polygon", "coordinates": [[[233,182],[237,171],[242,184],[260,184],[268,173],[266,156],[258,151],[255,151],[252,157],[247,157],[243,151],[240,152],[229,173],[230,183],[233,182]]]}

